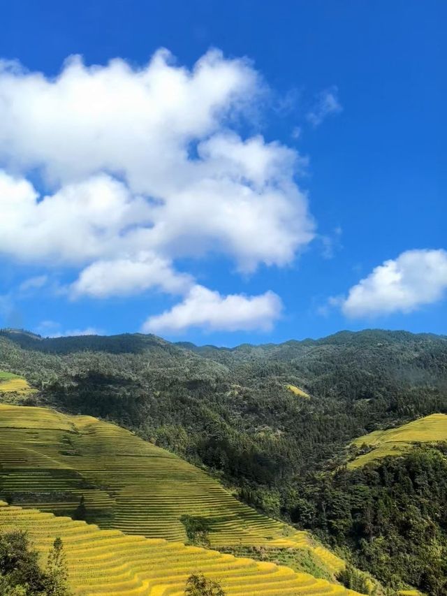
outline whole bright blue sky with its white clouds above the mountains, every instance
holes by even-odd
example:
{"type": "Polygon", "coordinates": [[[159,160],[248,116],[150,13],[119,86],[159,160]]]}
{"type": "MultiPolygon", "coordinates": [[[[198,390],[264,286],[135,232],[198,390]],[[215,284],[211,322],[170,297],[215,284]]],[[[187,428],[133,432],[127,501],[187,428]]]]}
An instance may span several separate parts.
{"type": "Polygon", "coordinates": [[[446,17],[441,0],[3,3],[0,326],[446,334],[446,17]]]}

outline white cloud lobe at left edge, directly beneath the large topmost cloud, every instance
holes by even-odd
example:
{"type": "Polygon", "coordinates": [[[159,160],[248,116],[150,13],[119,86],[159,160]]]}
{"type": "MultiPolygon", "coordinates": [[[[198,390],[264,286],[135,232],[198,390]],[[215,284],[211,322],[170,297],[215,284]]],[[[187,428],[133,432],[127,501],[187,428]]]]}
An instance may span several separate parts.
{"type": "Polygon", "coordinates": [[[67,184],[40,198],[0,170],[0,252],[31,263],[84,263],[135,247],[149,205],[105,174],[67,184]]]}

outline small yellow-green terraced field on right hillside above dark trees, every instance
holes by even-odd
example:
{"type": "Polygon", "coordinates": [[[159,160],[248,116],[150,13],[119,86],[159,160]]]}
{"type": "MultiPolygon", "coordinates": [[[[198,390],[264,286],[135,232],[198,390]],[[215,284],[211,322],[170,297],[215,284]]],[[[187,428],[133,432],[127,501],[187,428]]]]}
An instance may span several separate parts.
{"type": "Polygon", "coordinates": [[[375,430],[374,433],[358,437],[352,444],[357,447],[366,444],[372,451],[358,456],[348,467],[359,467],[386,456],[398,456],[416,443],[439,441],[447,441],[447,415],[431,414],[397,428],[375,430]]]}

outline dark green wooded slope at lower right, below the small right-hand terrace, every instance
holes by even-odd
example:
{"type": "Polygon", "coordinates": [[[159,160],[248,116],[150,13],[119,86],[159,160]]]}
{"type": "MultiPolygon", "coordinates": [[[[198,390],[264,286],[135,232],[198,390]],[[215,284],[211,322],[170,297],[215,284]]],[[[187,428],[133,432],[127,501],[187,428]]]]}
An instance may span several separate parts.
{"type": "MultiPolygon", "coordinates": [[[[302,486],[294,517],[399,588],[447,594],[447,444],[416,446],[302,486]]],[[[351,586],[359,589],[359,586],[351,586]]],[[[360,590],[362,591],[362,590],[360,590]]]]}

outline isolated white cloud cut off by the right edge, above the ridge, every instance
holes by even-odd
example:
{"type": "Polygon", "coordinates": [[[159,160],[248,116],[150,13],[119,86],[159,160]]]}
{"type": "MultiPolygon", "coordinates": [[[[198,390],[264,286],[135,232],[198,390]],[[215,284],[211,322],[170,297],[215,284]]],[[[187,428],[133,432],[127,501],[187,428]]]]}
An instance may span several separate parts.
{"type": "Polygon", "coordinates": [[[409,250],[385,261],[341,301],[348,317],[411,312],[441,300],[447,290],[447,252],[409,250]]]}

